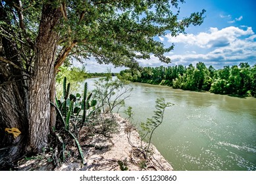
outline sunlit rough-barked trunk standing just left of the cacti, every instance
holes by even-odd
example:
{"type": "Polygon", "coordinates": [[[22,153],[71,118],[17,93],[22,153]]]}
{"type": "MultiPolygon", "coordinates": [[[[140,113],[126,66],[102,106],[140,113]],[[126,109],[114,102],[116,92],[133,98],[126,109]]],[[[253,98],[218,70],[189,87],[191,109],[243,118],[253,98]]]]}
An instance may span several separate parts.
{"type": "Polygon", "coordinates": [[[29,147],[32,152],[41,152],[47,145],[51,120],[51,91],[55,80],[54,64],[57,41],[56,26],[61,18],[61,11],[51,5],[42,10],[39,35],[36,43],[34,70],[28,90],[29,147]]]}

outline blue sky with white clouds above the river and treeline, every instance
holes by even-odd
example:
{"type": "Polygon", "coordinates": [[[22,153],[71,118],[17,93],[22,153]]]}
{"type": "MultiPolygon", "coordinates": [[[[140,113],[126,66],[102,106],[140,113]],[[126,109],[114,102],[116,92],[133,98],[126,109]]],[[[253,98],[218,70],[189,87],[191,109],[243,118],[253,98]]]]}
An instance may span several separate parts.
{"type": "MultiPolygon", "coordinates": [[[[215,69],[223,66],[248,62],[256,64],[256,1],[255,0],[186,0],[180,5],[180,16],[190,16],[191,12],[206,10],[201,26],[190,26],[186,35],[176,37],[165,35],[155,37],[166,47],[174,43],[174,50],[166,53],[170,64],[160,62],[158,58],[138,60],[141,66],[188,66],[204,62],[215,69]]],[[[120,72],[124,68],[97,64],[95,59],[85,60],[88,72],[120,72]]]]}

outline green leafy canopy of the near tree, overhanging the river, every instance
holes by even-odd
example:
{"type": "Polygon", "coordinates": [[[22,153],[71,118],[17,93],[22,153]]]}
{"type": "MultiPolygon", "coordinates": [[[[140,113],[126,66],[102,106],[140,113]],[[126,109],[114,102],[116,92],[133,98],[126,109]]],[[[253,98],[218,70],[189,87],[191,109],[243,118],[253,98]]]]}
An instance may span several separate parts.
{"type": "Polygon", "coordinates": [[[184,33],[191,24],[200,25],[205,13],[203,10],[180,18],[178,4],[184,3],[183,0],[2,1],[1,8],[7,11],[11,24],[1,20],[0,35],[19,45],[28,71],[45,3],[51,3],[63,15],[56,28],[59,32],[56,68],[68,56],[78,60],[94,57],[99,63],[128,67],[137,66],[136,59],[148,59],[151,54],[170,62],[164,54],[174,45],[165,48],[154,37],[184,33]]]}

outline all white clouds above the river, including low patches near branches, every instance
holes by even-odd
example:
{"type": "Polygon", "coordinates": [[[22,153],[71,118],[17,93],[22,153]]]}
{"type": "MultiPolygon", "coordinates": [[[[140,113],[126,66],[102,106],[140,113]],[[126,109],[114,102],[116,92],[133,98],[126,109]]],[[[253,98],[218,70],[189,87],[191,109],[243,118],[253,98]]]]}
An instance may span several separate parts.
{"type": "MultiPolygon", "coordinates": [[[[222,68],[240,62],[248,62],[251,66],[256,64],[256,34],[251,27],[230,26],[221,30],[210,28],[207,32],[199,34],[180,34],[177,37],[165,35],[159,39],[168,40],[178,46],[170,53],[166,53],[166,57],[172,61],[171,65],[195,66],[197,62],[204,62],[207,66],[222,68]],[[178,51],[180,45],[186,47],[178,51]]],[[[153,55],[149,60],[141,59],[138,62],[140,66],[167,66],[153,55]]],[[[107,68],[112,68],[112,72],[124,70],[124,68],[114,68],[113,65],[99,64],[94,58],[86,60],[86,64],[86,70],[90,72],[106,72],[107,68]]]]}

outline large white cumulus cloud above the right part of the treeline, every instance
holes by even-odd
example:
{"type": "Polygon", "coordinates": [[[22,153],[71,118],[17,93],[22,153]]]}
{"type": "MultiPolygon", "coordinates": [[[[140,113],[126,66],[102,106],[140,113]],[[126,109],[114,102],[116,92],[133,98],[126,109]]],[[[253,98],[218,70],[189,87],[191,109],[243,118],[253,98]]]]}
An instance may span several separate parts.
{"type": "Polygon", "coordinates": [[[184,52],[182,55],[168,55],[174,64],[188,65],[201,61],[217,68],[240,62],[256,64],[256,35],[250,27],[246,30],[233,26],[222,30],[210,28],[207,33],[177,37],[166,35],[166,37],[172,43],[190,45],[192,49],[195,46],[201,48],[197,53],[184,52]]]}

